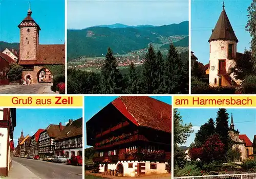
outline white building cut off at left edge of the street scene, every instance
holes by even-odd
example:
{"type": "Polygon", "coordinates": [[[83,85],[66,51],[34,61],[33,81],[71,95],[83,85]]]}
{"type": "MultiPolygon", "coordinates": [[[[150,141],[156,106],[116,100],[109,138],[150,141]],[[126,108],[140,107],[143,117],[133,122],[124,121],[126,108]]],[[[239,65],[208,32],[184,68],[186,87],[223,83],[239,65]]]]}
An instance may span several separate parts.
{"type": "Polygon", "coordinates": [[[13,131],[16,126],[16,110],[0,108],[0,176],[8,176],[14,150],[13,131]]]}

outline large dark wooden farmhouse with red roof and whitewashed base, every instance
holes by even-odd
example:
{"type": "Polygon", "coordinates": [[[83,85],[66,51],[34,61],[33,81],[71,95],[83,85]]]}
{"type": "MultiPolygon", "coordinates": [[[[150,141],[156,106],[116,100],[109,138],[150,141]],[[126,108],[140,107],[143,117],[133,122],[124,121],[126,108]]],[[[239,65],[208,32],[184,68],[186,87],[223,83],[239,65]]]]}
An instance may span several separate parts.
{"type": "Polygon", "coordinates": [[[99,171],[123,176],[167,173],[172,106],[147,96],[116,98],[86,123],[99,171]]]}

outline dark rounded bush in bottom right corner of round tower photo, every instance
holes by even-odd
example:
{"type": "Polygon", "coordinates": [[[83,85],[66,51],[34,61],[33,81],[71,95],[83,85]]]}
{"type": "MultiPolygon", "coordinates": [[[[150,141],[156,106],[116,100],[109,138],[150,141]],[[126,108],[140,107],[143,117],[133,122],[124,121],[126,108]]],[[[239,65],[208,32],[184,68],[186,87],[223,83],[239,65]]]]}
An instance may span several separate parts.
{"type": "Polygon", "coordinates": [[[256,94],[256,76],[246,75],[242,83],[244,94],[256,94]]]}

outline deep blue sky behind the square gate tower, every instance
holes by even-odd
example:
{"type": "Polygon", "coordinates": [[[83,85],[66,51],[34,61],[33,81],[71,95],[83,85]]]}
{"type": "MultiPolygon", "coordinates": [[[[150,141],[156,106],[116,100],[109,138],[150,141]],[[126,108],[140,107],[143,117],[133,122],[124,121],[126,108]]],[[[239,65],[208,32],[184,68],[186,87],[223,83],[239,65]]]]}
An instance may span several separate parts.
{"type": "MultiPolygon", "coordinates": [[[[40,26],[40,44],[65,43],[65,0],[29,0],[32,18],[40,26]]],[[[27,16],[28,0],[0,0],[0,41],[19,42],[20,22],[27,16]]]]}

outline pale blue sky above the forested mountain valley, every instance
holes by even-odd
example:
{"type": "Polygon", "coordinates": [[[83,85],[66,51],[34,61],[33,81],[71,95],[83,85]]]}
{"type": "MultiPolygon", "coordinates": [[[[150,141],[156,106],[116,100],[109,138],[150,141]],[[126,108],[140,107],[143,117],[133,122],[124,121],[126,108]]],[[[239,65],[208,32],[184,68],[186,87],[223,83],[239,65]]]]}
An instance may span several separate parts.
{"type": "Polygon", "coordinates": [[[68,29],[95,25],[164,25],[188,20],[188,0],[68,0],[68,29]]]}

